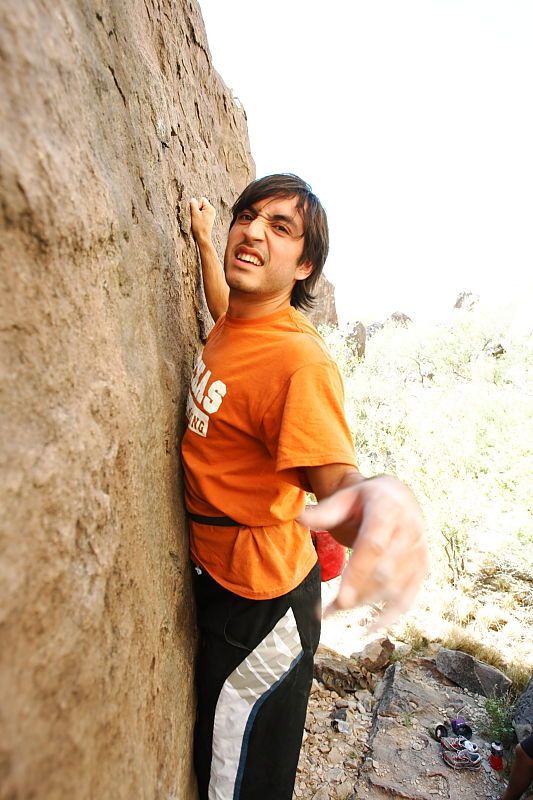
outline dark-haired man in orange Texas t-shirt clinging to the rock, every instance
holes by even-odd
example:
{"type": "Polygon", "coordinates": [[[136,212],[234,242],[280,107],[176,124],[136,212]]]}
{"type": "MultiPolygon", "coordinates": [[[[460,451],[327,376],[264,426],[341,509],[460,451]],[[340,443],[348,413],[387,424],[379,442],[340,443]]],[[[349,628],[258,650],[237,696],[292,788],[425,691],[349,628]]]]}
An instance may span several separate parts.
{"type": "Polygon", "coordinates": [[[358,471],[338,369],[309,307],[328,252],[325,212],[295,175],[237,199],[222,271],[215,212],[191,201],[215,321],[182,444],[200,648],[195,767],[201,800],[290,800],[320,635],[308,526],[352,548],[334,607],[382,601],[380,626],[427,568],[409,489],[358,471]],[[305,491],[318,506],[304,513],[305,491]]]}

